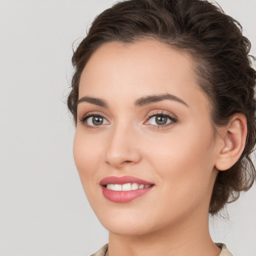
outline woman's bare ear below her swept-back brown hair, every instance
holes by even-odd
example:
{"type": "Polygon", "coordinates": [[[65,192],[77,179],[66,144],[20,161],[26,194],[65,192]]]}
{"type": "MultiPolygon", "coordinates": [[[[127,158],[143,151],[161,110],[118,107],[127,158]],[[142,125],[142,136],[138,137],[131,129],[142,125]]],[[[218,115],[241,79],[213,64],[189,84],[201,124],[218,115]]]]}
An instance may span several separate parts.
{"type": "Polygon", "coordinates": [[[226,170],[239,159],[244,149],[247,135],[247,120],[244,114],[234,114],[228,124],[221,127],[219,135],[215,167],[218,170],[226,170]]]}

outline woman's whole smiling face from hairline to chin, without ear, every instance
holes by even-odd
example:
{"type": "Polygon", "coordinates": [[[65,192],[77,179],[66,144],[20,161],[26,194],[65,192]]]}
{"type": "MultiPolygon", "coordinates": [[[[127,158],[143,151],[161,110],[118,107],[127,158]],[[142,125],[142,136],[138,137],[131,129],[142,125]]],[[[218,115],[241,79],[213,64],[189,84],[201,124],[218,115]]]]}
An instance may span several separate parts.
{"type": "Polygon", "coordinates": [[[217,140],[188,55],[154,40],[103,44],[79,99],[74,160],[105,228],[145,234],[207,216],[217,140]]]}

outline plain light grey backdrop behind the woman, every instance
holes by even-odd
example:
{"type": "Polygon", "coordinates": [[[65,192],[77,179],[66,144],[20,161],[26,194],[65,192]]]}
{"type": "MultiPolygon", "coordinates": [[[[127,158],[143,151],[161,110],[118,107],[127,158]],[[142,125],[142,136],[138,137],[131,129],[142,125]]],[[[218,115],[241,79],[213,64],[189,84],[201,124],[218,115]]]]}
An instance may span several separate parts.
{"type": "MultiPolygon", "coordinates": [[[[107,242],[72,157],[64,103],[71,45],[115,0],[0,0],[0,255],[90,255],[107,242]]],[[[256,55],[256,0],[218,0],[256,55]]],[[[214,241],[256,255],[255,186],[210,221],[214,241]]]]}

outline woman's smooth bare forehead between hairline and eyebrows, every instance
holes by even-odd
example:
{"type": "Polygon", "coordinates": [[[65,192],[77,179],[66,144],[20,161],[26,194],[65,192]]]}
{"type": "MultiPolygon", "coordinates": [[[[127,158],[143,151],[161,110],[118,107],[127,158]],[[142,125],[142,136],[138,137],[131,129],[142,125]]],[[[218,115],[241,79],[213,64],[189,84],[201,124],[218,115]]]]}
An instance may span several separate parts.
{"type": "Polygon", "coordinates": [[[145,94],[171,93],[184,101],[190,101],[191,95],[198,100],[202,93],[193,65],[189,54],[156,40],[105,43],[82,71],[79,98],[91,95],[124,102],[145,94]]]}

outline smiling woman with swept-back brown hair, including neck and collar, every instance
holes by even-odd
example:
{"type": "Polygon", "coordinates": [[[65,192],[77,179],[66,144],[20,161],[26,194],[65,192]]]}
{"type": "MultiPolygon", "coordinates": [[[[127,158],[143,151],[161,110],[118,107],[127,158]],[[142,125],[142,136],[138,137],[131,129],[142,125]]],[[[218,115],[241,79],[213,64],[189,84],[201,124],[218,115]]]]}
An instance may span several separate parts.
{"type": "Polygon", "coordinates": [[[75,50],[68,108],[93,255],[231,255],[214,215],[255,180],[255,70],[239,23],[203,0],[128,0],[75,50]]]}

